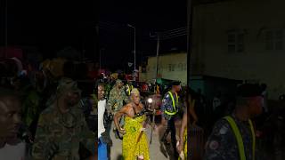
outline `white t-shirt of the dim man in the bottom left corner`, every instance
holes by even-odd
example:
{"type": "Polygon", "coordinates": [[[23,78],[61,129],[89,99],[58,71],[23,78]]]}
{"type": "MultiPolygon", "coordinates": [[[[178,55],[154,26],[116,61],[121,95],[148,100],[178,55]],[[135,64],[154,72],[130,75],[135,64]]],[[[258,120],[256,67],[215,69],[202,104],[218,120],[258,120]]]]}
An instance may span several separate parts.
{"type": "Polygon", "coordinates": [[[2,160],[24,160],[26,156],[26,143],[20,142],[15,146],[5,144],[0,148],[0,159],[2,160]]]}

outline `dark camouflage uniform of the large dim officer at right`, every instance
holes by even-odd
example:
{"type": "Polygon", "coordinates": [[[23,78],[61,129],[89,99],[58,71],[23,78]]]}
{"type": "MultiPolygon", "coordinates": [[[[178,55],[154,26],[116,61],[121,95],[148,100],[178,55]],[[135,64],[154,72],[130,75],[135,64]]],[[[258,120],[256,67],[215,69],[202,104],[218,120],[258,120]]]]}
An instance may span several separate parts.
{"type": "MultiPolygon", "coordinates": [[[[252,153],[252,133],[248,122],[238,120],[232,116],[237,124],[242,136],[245,155],[247,160],[251,160],[252,153]]],[[[232,132],[232,127],[225,120],[219,120],[213,129],[213,132],[208,138],[206,144],[205,160],[240,160],[239,148],[236,137],[232,132]]]]}

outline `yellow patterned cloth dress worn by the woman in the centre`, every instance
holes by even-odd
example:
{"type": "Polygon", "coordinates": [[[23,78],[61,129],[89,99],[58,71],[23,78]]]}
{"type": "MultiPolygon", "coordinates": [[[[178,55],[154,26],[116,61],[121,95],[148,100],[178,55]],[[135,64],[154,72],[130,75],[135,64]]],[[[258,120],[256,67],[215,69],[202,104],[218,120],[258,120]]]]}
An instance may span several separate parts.
{"type": "Polygon", "coordinates": [[[144,160],[150,160],[149,143],[145,132],[138,143],[137,139],[142,130],[142,122],[146,116],[139,116],[136,118],[125,117],[126,134],[123,137],[123,157],[124,160],[137,160],[138,156],[143,156],[144,160]]]}

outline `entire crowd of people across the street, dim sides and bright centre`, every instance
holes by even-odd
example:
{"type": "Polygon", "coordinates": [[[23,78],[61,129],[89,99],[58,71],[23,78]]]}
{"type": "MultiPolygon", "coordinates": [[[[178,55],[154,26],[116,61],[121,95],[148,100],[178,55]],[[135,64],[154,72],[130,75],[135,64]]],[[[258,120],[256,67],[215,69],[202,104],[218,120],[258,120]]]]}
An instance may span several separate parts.
{"type": "Polygon", "coordinates": [[[63,63],[61,76],[45,66],[2,72],[0,159],[113,159],[113,133],[123,159],[148,160],[146,131],[158,123],[151,118],[155,109],[165,126],[160,144],[171,148],[174,159],[266,159],[266,152],[284,157],[284,96],[272,105],[265,84],[241,84],[231,100],[223,100],[222,92],[207,100],[179,81],[159,91],[115,73],[83,87],[71,76],[72,62],[63,63]],[[146,88],[162,94],[159,108],[146,105],[146,88]],[[193,134],[198,129],[200,137],[193,134]]]}

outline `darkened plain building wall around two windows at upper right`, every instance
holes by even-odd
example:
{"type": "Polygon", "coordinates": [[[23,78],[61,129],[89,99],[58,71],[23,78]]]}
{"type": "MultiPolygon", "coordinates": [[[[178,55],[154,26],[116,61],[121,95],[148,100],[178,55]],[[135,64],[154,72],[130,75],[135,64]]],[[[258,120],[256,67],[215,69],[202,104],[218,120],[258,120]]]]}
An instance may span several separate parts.
{"type": "Polygon", "coordinates": [[[265,83],[271,99],[285,92],[285,1],[232,0],[193,13],[193,74],[265,83]],[[274,1],[274,2],[273,2],[274,1]],[[244,52],[228,52],[228,33],[244,33],[244,52]],[[265,49],[265,32],[281,29],[282,50],[265,49]]]}

